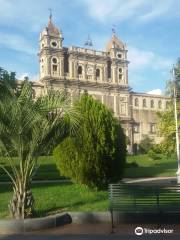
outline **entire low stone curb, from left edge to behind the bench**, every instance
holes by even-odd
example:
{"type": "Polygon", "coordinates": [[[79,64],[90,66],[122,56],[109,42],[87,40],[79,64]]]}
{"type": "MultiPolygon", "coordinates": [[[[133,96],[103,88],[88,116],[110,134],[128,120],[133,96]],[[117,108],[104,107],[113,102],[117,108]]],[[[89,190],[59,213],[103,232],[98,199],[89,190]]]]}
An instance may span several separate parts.
{"type": "MultiPolygon", "coordinates": [[[[179,223],[180,216],[169,214],[156,216],[156,214],[119,214],[114,212],[114,223],[179,223]],[[175,221],[176,220],[176,221],[175,221]]],[[[66,224],[111,224],[111,215],[109,212],[69,212],[56,214],[43,218],[32,218],[25,220],[0,220],[0,234],[22,234],[32,231],[40,231],[48,228],[56,228],[66,224]]]]}

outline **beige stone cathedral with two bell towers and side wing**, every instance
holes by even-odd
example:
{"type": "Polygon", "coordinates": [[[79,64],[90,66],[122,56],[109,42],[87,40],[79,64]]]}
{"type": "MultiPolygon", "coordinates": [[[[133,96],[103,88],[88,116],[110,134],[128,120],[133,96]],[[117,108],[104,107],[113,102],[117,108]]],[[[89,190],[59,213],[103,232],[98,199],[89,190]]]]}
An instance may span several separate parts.
{"type": "Polygon", "coordinates": [[[157,112],[165,111],[169,98],[133,92],[128,84],[128,50],[113,31],[104,51],[92,49],[90,38],[85,47],[63,45],[63,35],[50,15],[39,39],[39,80],[33,83],[35,95],[48,89],[65,89],[73,98],[84,91],[112,109],[128,138],[129,153],[148,135],[156,143],[157,112]]]}

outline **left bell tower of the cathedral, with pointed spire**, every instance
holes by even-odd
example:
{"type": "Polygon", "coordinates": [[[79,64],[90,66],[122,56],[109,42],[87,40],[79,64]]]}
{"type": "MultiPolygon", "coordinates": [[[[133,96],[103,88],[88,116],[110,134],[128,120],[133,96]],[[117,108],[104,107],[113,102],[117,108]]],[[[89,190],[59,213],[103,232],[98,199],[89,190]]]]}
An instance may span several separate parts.
{"type": "Polygon", "coordinates": [[[52,22],[50,11],[47,27],[40,33],[39,40],[40,80],[45,77],[59,78],[64,75],[62,32],[52,22]]]}

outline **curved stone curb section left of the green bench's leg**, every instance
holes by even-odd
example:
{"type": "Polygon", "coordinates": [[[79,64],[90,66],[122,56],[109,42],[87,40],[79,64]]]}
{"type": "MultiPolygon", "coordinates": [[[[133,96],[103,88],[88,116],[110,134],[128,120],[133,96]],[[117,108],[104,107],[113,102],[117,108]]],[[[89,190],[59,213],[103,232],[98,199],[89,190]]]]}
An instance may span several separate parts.
{"type": "Polygon", "coordinates": [[[65,224],[104,223],[110,222],[109,212],[68,212],[42,218],[25,220],[0,219],[0,234],[18,234],[56,228],[65,224]]]}

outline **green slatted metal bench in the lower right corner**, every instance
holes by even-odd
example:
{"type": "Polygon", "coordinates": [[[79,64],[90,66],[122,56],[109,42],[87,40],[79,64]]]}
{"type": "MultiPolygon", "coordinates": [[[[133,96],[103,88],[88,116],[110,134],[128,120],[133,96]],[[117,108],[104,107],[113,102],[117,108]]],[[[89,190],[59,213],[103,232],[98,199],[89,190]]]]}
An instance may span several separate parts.
{"type": "Polygon", "coordinates": [[[124,183],[110,184],[109,210],[112,231],[114,211],[120,214],[145,215],[180,214],[180,186],[140,186],[124,183]]]}

